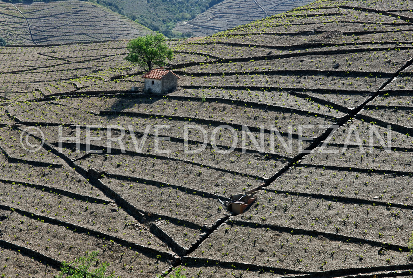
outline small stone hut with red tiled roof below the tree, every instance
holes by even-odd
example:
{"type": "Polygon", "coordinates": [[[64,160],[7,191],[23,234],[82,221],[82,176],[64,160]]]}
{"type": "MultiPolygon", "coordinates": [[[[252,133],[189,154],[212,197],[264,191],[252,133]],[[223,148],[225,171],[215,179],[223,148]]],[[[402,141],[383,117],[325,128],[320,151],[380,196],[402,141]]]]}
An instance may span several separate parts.
{"type": "Polygon", "coordinates": [[[142,78],[145,79],[145,92],[155,94],[171,92],[178,86],[180,79],[172,71],[163,68],[151,69],[142,78]]]}

